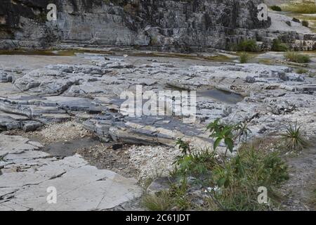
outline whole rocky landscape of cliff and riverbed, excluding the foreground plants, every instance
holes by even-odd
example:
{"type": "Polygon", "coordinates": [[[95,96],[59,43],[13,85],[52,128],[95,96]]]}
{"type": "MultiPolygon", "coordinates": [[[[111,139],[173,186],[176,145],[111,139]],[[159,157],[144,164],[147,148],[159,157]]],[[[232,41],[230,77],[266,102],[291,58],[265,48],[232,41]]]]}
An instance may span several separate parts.
{"type": "MultiPolygon", "coordinates": [[[[310,28],[272,11],[258,21],[261,0],[51,2],[57,21],[46,21],[48,1],[4,0],[0,8],[0,211],[141,210],[142,195],[155,191],[152,181],[169,176],[181,154],[176,140],[213,150],[206,126],[218,118],[245,122],[249,141],[277,138],[297,122],[311,144],[286,155],[281,209],[315,209],[310,28]],[[240,53],[228,50],[244,39],[268,51],[239,63],[240,53]],[[269,51],[274,39],[310,63],[269,51]],[[159,108],[163,115],[122,110],[122,94],[140,87],[141,96],[151,91],[169,103],[159,108]],[[196,93],[190,118],[173,111],[189,105],[177,102],[181,91],[196,93]],[[52,187],[56,203],[49,203],[52,187]]],[[[225,150],[220,143],[218,154],[225,150]]]]}

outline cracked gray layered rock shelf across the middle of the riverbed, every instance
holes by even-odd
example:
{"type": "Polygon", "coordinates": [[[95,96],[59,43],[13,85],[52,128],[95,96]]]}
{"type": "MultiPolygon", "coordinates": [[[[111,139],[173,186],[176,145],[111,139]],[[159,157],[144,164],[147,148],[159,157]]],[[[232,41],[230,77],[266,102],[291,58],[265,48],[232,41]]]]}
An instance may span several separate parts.
{"type": "Polygon", "coordinates": [[[20,93],[0,98],[2,130],[32,131],[72,118],[103,141],[174,146],[176,139],[183,138],[193,146],[209,148],[212,141],[205,127],[218,117],[226,122],[248,122],[251,136],[280,131],[295,120],[305,124],[308,136],[316,132],[312,122],[315,78],[298,75],[286,66],[207,66],[99,57],[81,65],[31,70],[16,77],[11,86],[20,93]],[[139,84],[143,91],[156,93],[197,90],[197,120],[186,124],[182,117],[121,114],[121,91],[135,91],[139,84]]]}

